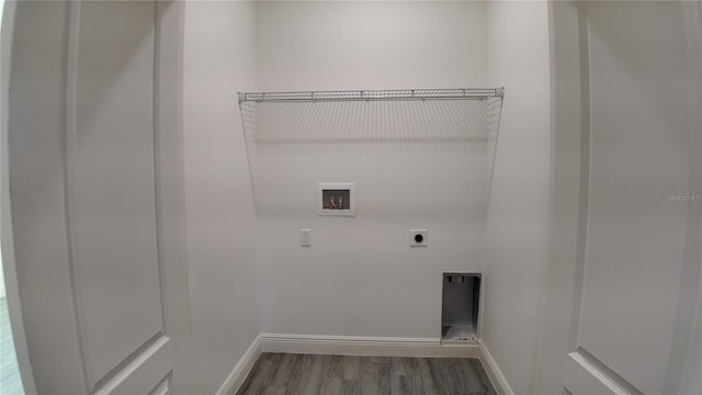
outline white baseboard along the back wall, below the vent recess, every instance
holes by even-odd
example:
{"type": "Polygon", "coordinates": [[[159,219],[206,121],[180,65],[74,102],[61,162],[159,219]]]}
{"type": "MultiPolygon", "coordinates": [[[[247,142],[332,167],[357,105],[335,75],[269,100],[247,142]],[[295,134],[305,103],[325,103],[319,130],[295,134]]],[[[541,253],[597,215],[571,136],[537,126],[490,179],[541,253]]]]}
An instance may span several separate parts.
{"type": "Polygon", "coordinates": [[[477,343],[441,345],[438,338],[261,334],[261,351],[337,356],[478,358],[477,343]]]}

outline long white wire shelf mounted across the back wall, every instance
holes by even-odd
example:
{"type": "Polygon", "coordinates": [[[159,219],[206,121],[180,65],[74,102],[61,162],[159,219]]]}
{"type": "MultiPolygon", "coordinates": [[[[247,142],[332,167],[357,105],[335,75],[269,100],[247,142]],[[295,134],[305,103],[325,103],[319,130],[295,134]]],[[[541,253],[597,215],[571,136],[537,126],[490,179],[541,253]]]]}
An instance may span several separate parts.
{"type": "Polygon", "coordinates": [[[239,102],[347,100],[484,100],[501,98],[505,88],[388,89],[304,92],[239,92],[239,102]]]}

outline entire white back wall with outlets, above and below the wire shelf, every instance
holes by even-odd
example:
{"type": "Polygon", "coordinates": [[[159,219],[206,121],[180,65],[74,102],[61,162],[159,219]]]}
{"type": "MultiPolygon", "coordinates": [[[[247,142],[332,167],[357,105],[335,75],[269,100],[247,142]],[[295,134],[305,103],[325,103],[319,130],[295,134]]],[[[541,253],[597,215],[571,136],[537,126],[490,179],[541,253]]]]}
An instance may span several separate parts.
{"type": "MultiPolygon", "coordinates": [[[[257,7],[260,90],[485,86],[482,2],[257,7]]],[[[441,273],[482,270],[485,142],[460,124],[419,125],[457,111],[419,105],[259,109],[285,125],[258,131],[263,332],[440,336],[441,273]],[[318,217],[318,182],[355,182],[355,217],[318,217]],[[299,247],[301,228],[313,229],[312,248],[299,247]],[[409,247],[410,228],[429,229],[428,248],[409,247]]]]}

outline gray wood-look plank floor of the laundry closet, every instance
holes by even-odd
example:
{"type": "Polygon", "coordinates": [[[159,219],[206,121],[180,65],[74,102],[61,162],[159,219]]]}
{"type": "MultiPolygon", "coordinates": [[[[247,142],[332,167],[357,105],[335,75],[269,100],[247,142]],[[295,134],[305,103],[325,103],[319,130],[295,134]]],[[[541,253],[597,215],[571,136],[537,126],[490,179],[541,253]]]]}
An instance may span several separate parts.
{"type": "Polygon", "coordinates": [[[237,394],[495,395],[496,392],[474,358],[262,353],[237,394]]]}

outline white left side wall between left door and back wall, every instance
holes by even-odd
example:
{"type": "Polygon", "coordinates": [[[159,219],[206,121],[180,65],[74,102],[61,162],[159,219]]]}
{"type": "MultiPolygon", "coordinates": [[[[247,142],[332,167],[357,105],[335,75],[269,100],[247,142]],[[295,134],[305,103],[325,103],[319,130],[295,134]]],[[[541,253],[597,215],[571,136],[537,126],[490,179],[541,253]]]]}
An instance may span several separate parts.
{"type": "Polygon", "coordinates": [[[215,393],[259,334],[256,215],[237,90],[256,82],[251,2],[185,5],[183,135],[196,393],[215,393]]]}

